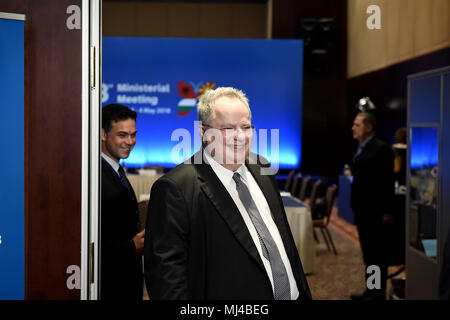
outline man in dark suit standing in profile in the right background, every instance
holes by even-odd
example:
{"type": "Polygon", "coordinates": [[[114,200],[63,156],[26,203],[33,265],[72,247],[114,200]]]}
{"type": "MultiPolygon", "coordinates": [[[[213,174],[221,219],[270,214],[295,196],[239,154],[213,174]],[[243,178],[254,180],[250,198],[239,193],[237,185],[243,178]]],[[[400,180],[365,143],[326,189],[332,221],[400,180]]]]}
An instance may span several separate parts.
{"type": "MultiPolygon", "coordinates": [[[[380,268],[379,289],[367,288],[352,299],[385,299],[387,261],[385,226],[392,221],[394,197],[394,156],[392,149],[375,137],[374,115],[358,113],[353,122],[353,138],[359,142],[352,161],[353,181],[350,203],[355,214],[364,263],[380,268]]],[[[367,277],[371,274],[366,272],[367,277]]],[[[376,284],[376,282],[375,282],[376,284]]]]}

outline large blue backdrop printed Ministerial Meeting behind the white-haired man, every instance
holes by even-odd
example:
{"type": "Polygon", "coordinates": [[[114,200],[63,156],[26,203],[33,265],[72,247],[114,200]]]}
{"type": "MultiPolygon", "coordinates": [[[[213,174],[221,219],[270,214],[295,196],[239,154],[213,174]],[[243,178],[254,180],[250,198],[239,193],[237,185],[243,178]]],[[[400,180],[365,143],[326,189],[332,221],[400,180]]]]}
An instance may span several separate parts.
{"type": "Polygon", "coordinates": [[[302,40],[103,37],[102,66],[103,105],[121,103],[138,112],[128,167],[170,168],[193,154],[200,146],[197,98],[219,86],[243,90],[256,133],[267,130],[267,152],[255,140],[252,151],[275,161],[271,129],[279,129],[279,167],[300,165],[302,40]],[[189,133],[191,150],[174,158],[181,142],[171,139],[176,129],[189,133]]]}

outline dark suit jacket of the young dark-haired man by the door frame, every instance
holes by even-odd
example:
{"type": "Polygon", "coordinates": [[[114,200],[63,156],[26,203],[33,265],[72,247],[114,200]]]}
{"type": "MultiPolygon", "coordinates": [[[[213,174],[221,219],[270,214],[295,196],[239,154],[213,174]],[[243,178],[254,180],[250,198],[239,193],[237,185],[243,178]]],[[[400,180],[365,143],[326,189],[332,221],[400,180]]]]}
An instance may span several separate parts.
{"type": "Polygon", "coordinates": [[[142,300],[142,256],[133,238],[139,232],[134,191],[102,160],[101,299],[142,300]]]}

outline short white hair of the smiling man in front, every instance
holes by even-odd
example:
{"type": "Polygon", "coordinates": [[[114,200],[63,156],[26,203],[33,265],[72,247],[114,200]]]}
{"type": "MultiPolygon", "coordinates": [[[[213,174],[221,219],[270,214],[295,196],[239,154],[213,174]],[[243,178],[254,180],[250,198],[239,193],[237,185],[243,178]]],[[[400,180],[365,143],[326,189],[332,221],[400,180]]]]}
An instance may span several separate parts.
{"type": "Polygon", "coordinates": [[[250,106],[248,104],[248,98],[245,96],[245,93],[239,89],[235,89],[232,87],[219,87],[217,89],[211,89],[205,91],[200,96],[197,113],[198,120],[202,123],[208,124],[211,121],[211,118],[214,113],[214,102],[220,97],[230,97],[239,99],[248,109],[248,113],[250,115],[250,120],[252,118],[252,113],[250,111],[250,106]]]}

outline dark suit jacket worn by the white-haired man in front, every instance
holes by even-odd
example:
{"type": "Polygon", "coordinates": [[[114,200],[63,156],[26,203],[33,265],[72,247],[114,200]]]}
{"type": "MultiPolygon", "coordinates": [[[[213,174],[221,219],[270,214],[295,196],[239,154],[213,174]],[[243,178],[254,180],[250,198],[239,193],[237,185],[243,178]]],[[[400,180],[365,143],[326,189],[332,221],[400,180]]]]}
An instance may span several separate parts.
{"type": "MultiPolygon", "coordinates": [[[[311,293],[276,181],[273,176],[261,175],[258,165],[248,164],[247,168],[274,215],[299,299],[309,300],[311,293]]],[[[274,298],[239,209],[210,165],[181,164],[153,185],[146,226],[145,279],[150,299],[274,298]]]]}

